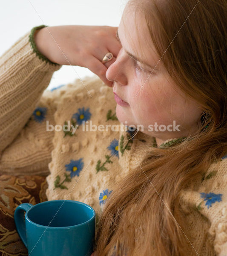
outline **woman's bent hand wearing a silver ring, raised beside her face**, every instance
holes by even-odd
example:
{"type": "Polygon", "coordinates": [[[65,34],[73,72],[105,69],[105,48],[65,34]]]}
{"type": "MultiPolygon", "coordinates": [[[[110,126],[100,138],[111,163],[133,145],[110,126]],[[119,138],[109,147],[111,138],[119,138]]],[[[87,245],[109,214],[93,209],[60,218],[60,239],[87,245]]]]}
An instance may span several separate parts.
{"type": "Polygon", "coordinates": [[[87,67],[105,84],[107,68],[116,60],[121,44],[116,39],[118,27],[112,26],[50,26],[39,29],[34,36],[37,49],[50,61],[60,65],[87,67]],[[101,63],[104,55],[113,58],[101,63]]]}

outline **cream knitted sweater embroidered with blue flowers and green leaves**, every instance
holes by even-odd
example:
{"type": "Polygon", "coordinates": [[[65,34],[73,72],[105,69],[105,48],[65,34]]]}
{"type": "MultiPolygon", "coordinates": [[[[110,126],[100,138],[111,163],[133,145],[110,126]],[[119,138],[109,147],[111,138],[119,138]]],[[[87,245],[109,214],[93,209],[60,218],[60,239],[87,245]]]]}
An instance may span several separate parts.
{"type": "MultiPolygon", "coordinates": [[[[48,200],[89,204],[98,223],[113,185],[157,145],[142,132],[131,136],[116,118],[112,88],[96,75],[46,90],[61,65],[37,51],[34,31],[42,27],[0,57],[0,173],[48,175],[48,200]]],[[[197,185],[180,195],[193,246],[185,255],[227,255],[227,157],[197,185]]]]}

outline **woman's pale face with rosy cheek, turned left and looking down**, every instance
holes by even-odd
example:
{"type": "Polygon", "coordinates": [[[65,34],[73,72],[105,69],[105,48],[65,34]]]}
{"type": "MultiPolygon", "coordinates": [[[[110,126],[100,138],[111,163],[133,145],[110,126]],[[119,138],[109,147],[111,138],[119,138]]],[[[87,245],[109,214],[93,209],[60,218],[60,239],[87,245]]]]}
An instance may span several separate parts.
{"type": "Polygon", "coordinates": [[[106,78],[113,81],[113,92],[126,102],[119,102],[115,96],[119,121],[136,127],[142,125],[139,130],[156,137],[157,143],[193,134],[198,130],[201,108],[175,86],[155,52],[145,20],[137,17],[137,34],[135,15],[127,8],[126,5],[118,27],[122,48],[106,71],[106,78]],[[177,128],[171,131],[174,121],[177,128]]]}

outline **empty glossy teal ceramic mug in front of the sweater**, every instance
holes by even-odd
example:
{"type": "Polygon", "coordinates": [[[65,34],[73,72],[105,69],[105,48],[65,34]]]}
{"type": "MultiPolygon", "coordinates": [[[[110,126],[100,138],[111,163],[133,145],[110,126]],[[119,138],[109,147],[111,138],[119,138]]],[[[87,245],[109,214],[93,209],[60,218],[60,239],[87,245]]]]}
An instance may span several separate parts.
{"type": "Polygon", "coordinates": [[[20,204],[14,221],[29,256],[91,256],[93,252],[95,210],[82,202],[20,204]]]}

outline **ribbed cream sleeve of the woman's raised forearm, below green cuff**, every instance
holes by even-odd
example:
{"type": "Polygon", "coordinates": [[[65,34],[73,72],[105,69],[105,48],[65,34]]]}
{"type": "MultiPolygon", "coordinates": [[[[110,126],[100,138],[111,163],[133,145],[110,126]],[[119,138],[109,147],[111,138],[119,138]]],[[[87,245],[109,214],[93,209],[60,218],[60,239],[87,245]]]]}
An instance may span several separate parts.
{"type": "Polygon", "coordinates": [[[0,156],[37,107],[53,73],[61,65],[37,51],[34,27],[0,57],[0,156]]]}

